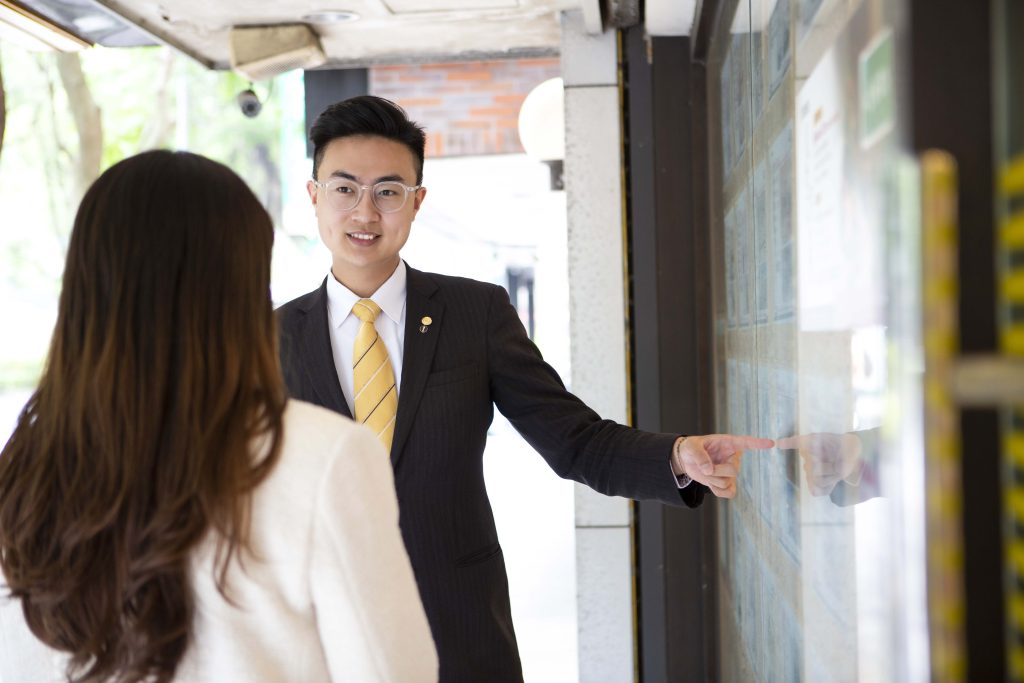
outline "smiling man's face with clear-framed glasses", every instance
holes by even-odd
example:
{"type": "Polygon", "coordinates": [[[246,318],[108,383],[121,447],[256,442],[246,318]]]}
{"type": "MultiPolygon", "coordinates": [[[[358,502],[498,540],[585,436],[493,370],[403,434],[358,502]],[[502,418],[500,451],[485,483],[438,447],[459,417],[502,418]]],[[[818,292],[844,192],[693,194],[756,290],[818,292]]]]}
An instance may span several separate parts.
{"type": "MultiPolygon", "coordinates": [[[[316,173],[321,182],[347,178],[370,187],[385,180],[415,185],[416,161],[400,142],[375,135],[349,136],[328,143],[316,173]]],[[[321,239],[331,250],[335,278],[353,291],[368,286],[376,290],[397,267],[398,252],[409,240],[427,190],[409,193],[401,209],[384,213],[374,205],[370,189],[362,190],[359,203],[348,210],[333,208],[326,196],[329,190],[312,182],[306,183],[306,189],[321,239]]]]}

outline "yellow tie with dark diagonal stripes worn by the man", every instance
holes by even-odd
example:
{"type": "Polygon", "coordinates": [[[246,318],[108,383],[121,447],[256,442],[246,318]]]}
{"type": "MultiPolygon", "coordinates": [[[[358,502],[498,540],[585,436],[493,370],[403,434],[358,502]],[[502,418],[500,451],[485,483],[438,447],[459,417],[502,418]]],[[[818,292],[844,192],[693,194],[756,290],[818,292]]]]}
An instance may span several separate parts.
{"type": "Polygon", "coordinates": [[[390,452],[394,418],[398,412],[398,390],[384,340],[374,327],[380,312],[381,307],[370,299],[359,299],[352,306],[352,313],[362,321],[352,347],[352,386],[355,420],[373,429],[390,452]]]}

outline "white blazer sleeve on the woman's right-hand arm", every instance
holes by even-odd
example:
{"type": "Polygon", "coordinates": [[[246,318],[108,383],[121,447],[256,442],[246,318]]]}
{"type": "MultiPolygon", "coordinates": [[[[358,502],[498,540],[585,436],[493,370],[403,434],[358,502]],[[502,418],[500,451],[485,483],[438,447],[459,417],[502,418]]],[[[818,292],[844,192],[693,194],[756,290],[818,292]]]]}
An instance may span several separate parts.
{"type": "Polygon", "coordinates": [[[316,493],[310,587],[333,681],[437,680],[437,652],[398,530],[391,463],[349,432],[316,493]]]}

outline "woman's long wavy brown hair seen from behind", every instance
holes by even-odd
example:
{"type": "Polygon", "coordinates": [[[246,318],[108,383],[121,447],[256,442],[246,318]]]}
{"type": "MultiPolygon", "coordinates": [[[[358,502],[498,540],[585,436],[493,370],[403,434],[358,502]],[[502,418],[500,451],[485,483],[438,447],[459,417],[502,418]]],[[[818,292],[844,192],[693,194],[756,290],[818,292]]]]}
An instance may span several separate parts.
{"type": "Polygon", "coordinates": [[[188,153],[122,161],[79,207],[46,367],[0,454],[0,568],[72,679],[173,677],[211,530],[227,588],[280,452],[272,243],[242,179],[188,153]]]}

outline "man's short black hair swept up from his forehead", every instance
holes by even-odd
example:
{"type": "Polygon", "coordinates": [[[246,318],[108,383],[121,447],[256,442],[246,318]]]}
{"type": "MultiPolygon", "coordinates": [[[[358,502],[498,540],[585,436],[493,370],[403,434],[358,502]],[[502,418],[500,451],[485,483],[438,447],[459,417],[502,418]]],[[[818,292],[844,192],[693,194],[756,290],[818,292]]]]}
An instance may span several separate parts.
{"type": "Polygon", "coordinates": [[[423,151],[427,136],[423,127],[410,121],[406,110],[376,95],[349,97],[328,106],[309,129],[313,143],[313,179],[332,140],[351,135],[377,135],[409,147],[416,159],[416,184],[423,182],[423,151]]]}

